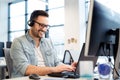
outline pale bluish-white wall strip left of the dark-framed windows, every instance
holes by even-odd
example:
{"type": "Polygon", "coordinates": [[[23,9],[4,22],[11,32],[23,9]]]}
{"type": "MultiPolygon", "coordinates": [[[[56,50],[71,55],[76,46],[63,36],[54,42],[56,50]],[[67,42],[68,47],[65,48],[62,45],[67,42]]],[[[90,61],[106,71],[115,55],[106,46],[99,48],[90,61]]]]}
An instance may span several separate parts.
{"type": "Polygon", "coordinates": [[[8,2],[0,0],[0,42],[7,41],[8,26],[8,2]]]}

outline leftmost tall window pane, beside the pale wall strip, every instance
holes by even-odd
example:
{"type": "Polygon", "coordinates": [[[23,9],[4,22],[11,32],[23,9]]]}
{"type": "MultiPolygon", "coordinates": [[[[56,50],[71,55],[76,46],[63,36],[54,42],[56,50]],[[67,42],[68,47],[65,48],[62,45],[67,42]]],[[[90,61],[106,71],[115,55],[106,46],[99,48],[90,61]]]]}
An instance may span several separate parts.
{"type": "Polygon", "coordinates": [[[9,16],[9,39],[12,41],[15,37],[23,34],[25,29],[25,1],[10,4],[9,16]],[[19,10],[20,9],[20,10],[19,10]],[[16,32],[18,31],[18,32],[16,32]],[[17,35],[15,35],[17,33],[17,35]]]}

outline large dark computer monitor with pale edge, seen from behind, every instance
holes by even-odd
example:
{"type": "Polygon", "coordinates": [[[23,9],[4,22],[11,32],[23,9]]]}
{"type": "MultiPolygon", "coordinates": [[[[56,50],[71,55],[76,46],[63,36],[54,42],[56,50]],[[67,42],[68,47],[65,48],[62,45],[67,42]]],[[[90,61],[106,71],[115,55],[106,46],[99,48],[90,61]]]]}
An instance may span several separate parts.
{"type": "Polygon", "coordinates": [[[99,56],[102,43],[115,44],[115,36],[109,33],[117,28],[120,28],[120,14],[98,0],[90,0],[84,55],[99,56]]]}

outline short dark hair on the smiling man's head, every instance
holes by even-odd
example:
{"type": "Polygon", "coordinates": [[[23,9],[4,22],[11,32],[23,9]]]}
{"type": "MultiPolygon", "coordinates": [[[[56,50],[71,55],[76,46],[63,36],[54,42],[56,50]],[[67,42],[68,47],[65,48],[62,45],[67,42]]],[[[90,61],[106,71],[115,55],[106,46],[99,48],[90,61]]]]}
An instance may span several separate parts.
{"type": "Polygon", "coordinates": [[[35,20],[38,16],[45,16],[45,17],[49,17],[48,13],[44,10],[35,10],[32,12],[31,16],[30,16],[30,21],[35,20]]]}

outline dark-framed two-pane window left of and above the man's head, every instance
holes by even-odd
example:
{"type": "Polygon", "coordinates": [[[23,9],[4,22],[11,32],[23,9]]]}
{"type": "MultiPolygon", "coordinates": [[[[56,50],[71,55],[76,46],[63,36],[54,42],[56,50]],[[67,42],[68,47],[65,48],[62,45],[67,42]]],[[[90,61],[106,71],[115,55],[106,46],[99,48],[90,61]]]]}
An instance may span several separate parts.
{"type": "Polygon", "coordinates": [[[25,34],[29,29],[27,21],[33,10],[45,10],[46,3],[41,0],[22,0],[9,3],[9,17],[8,17],[8,41],[13,41],[14,38],[25,34]],[[35,5],[34,5],[35,4],[35,5]],[[18,33],[17,35],[15,35],[18,33]]]}

